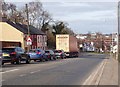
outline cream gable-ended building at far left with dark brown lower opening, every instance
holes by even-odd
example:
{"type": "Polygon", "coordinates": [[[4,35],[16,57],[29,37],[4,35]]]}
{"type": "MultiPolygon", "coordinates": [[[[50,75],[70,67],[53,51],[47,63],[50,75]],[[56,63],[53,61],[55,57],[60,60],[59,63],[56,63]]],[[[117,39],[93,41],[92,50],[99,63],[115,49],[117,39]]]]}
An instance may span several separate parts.
{"type": "Polygon", "coordinates": [[[8,20],[5,18],[0,21],[0,43],[2,47],[21,46],[24,48],[24,33],[7,22],[8,20]]]}

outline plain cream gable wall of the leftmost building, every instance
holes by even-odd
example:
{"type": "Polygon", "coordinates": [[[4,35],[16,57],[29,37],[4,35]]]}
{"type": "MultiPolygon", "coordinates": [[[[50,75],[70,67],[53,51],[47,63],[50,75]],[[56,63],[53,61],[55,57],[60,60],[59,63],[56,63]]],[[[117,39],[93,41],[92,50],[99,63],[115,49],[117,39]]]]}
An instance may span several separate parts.
{"type": "Polygon", "coordinates": [[[0,34],[0,41],[20,42],[24,48],[24,34],[6,22],[0,22],[0,34]]]}

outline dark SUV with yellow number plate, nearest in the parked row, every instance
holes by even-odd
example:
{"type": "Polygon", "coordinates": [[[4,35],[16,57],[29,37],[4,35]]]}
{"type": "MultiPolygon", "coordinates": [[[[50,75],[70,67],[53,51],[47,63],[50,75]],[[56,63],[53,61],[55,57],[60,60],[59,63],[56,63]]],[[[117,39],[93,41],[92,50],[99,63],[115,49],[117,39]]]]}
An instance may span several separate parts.
{"type": "Polygon", "coordinates": [[[11,62],[11,64],[20,64],[21,61],[30,63],[30,57],[21,47],[2,48],[2,64],[11,62]]]}

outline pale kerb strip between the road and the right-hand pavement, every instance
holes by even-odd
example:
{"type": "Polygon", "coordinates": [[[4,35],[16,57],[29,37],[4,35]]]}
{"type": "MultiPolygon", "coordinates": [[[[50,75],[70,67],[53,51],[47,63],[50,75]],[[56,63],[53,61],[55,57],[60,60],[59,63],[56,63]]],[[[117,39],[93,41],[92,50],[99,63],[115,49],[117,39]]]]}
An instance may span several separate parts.
{"type": "Polygon", "coordinates": [[[108,59],[104,59],[91,73],[91,75],[85,80],[82,85],[99,85],[101,76],[104,72],[104,67],[108,59]]]}

